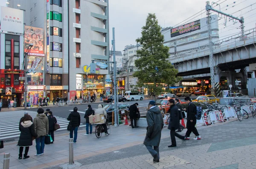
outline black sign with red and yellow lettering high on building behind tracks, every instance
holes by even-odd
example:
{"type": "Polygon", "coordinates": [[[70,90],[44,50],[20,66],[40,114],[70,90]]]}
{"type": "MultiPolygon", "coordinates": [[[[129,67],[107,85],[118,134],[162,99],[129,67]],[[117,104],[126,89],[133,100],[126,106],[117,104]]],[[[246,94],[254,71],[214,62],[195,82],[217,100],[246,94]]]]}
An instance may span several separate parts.
{"type": "Polygon", "coordinates": [[[195,30],[201,29],[200,20],[187,23],[185,25],[177,26],[171,29],[171,37],[179,36],[181,34],[186,34],[188,32],[193,32],[195,30]]]}

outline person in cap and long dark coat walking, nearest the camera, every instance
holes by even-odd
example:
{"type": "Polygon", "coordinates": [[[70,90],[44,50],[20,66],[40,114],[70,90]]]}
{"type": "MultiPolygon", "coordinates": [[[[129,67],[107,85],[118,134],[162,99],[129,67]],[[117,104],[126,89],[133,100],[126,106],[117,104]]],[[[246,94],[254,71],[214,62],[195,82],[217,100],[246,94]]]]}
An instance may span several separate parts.
{"type": "Polygon", "coordinates": [[[146,116],[148,127],[144,145],[153,156],[153,162],[159,163],[159,144],[161,140],[161,131],[163,129],[163,116],[154,100],[149,102],[148,108],[146,116]]]}

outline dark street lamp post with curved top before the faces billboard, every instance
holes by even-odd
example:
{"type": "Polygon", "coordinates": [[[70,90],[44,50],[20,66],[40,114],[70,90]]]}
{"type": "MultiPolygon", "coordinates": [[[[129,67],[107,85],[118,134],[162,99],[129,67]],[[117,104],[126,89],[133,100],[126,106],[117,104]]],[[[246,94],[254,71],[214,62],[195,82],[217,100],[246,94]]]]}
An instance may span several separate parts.
{"type": "Polygon", "coordinates": [[[24,85],[24,109],[26,109],[27,107],[27,100],[26,100],[26,95],[27,95],[27,87],[28,87],[28,83],[27,83],[27,69],[28,69],[28,57],[31,51],[31,48],[33,46],[33,43],[30,43],[30,45],[28,46],[26,52],[24,52],[24,73],[25,73],[25,85],[24,85]]]}

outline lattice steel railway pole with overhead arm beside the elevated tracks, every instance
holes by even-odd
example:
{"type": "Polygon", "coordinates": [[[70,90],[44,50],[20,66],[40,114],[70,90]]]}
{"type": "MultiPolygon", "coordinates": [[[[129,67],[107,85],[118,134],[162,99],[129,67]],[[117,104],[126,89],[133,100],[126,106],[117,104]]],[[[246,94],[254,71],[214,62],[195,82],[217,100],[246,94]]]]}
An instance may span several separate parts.
{"type": "MultiPolygon", "coordinates": [[[[232,18],[233,20],[239,20],[239,22],[241,23],[242,39],[244,39],[244,17],[241,17],[239,19],[238,17],[233,17],[230,14],[226,14],[224,12],[213,9],[212,6],[210,6],[209,1],[206,2],[205,9],[207,11],[207,27],[208,27],[208,36],[209,36],[209,59],[210,59],[210,72],[211,72],[211,86],[212,86],[212,89],[214,89],[215,79],[214,79],[214,66],[213,66],[212,25],[211,25],[211,12],[210,11],[215,11],[221,15],[224,15],[224,17],[226,16],[226,17],[232,18]]],[[[226,20],[226,22],[227,22],[227,20],[226,20]]]]}

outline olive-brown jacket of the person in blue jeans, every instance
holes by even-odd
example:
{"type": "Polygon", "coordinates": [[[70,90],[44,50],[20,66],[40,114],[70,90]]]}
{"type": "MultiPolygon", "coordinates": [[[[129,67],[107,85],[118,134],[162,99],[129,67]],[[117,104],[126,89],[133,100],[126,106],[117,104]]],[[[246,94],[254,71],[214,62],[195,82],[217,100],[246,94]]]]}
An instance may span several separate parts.
{"type": "Polygon", "coordinates": [[[49,132],[49,121],[45,114],[38,114],[34,118],[35,125],[35,133],[37,134],[37,138],[41,136],[45,136],[49,132]]]}

